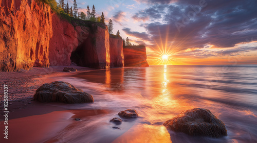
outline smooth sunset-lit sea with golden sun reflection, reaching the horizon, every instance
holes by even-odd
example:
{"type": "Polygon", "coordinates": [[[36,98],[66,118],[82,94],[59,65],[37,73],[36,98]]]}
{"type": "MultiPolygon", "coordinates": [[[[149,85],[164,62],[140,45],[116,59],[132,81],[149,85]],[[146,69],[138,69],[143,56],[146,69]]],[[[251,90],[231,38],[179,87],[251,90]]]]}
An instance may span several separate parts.
{"type": "Polygon", "coordinates": [[[59,122],[70,122],[43,142],[257,142],[257,65],[150,65],[52,80],[90,93],[94,103],[52,105],[70,113],[59,122]],[[193,108],[209,109],[228,135],[190,136],[162,125],[193,108]],[[139,117],[120,125],[109,122],[126,109],[135,109],[139,117]]]}

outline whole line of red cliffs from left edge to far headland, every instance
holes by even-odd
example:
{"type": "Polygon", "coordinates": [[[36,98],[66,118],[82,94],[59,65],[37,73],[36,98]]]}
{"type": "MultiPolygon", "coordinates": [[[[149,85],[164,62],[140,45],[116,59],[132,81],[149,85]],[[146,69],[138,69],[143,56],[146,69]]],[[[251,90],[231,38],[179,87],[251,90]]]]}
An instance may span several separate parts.
{"type": "MultiPolygon", "coordinates": [[[[104,23],[68,22],[35,0],[0,0],[0,54],[0,71],[71,61],[98,69],[124,66],[122,39],[110,36],[104,23]]],[[[145,51],[141,56],[146,59],[145,51]]]]}

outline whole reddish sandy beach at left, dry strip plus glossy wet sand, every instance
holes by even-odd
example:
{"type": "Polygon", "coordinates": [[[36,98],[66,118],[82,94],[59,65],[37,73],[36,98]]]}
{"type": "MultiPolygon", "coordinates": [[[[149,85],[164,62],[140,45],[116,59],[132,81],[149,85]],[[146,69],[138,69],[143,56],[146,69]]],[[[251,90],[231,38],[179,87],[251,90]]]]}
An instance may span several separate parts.
{"type": "Polygon", "coordinates": [[[0,142],[55,142],[54,137],[75,118],[88,118],[107,112],[98,110],[69,110],[62,103],[40,103],[33,100],[33,94],[42,84],[49,83],[51,77],[70,76],[80,72],[95,70],[79,66],[33,67],[31,70],[0,72],[1,89],[8,85],[8,140],[4,139],[4,102],[0,102],[0,142]],[[74,67],[78,71],[63,72],[64,67],[74,67]],[[50,139],[49,139],[50,138],[50,139]]]}

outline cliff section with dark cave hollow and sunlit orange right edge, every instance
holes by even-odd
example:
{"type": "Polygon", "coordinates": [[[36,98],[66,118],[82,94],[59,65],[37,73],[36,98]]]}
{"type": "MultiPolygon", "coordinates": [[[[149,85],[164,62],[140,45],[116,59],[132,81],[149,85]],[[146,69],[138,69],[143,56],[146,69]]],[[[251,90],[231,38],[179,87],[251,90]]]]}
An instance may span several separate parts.
{"type": "MultiPolygon", "coordinates": [[[[88,24],[88,23],[87,23],[88,24]]],[[[90,23],[89,36],[72,53],[71,60],[80,66],[107,69],[110,67],[109,33],[104,23],[90,23]]]]}

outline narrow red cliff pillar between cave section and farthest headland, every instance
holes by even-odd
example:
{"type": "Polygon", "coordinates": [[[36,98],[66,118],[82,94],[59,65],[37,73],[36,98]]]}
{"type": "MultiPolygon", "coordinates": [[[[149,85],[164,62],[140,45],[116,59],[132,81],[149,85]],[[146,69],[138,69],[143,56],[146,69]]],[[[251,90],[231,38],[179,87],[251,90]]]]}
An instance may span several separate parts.
{"type": "Polygon", "coordinates": [[[110,66],[124,67],[123,40],[120,36],[110,35],[110,66]]]}

